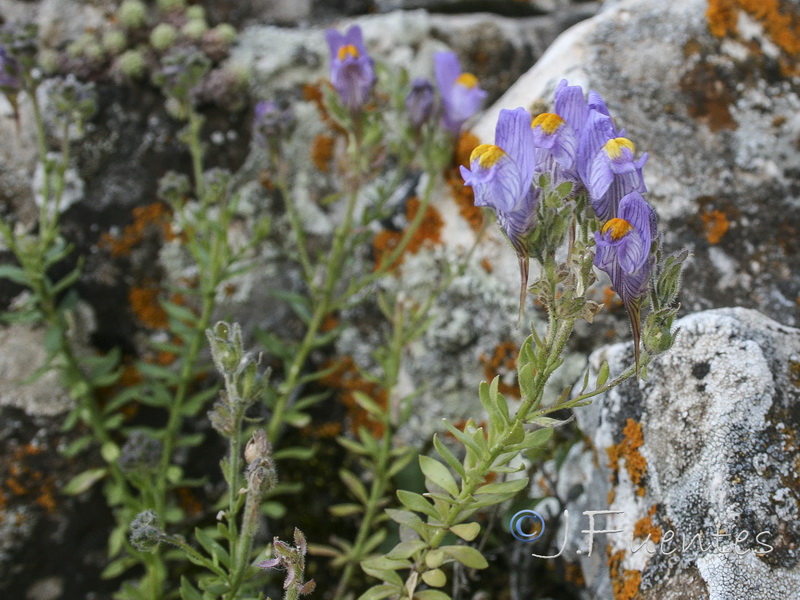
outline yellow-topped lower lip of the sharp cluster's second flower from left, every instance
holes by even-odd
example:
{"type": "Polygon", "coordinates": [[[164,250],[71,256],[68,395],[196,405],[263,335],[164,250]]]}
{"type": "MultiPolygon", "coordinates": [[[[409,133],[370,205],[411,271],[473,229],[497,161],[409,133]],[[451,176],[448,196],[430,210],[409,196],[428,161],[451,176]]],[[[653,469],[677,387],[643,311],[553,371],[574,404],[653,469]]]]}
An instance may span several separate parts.
{"type": "Polygon", "coordinates": [[[536,173],[548,175],[551,186],[566,181],[576,183],[578,139],[573,128],[554,113],[537,116],[531,127],[536,145],[536,173]]]}

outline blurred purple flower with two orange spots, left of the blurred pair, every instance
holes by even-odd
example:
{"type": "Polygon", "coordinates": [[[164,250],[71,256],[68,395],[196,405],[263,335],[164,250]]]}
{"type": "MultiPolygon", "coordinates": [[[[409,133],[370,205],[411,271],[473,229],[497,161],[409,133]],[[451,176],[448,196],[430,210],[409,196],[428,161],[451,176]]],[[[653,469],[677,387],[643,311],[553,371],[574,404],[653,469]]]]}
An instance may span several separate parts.
{"type": "Polygon", "coordinates": [[[358,110],[366,104],[376,79],[361,27],[353,25],[344,35],[328,29],[325,39],[331,51],[331,83],[344,105],[358,110]]]}

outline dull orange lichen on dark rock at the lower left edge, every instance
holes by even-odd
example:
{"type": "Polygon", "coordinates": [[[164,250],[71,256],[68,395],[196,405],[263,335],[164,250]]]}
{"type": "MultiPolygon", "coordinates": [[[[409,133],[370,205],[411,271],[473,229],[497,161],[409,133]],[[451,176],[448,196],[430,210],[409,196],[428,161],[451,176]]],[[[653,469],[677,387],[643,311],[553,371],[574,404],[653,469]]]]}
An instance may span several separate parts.
{"type": "Polygon", "coordinates": [[[33,502],[48,513],[56,510],[56,486],[52,477],[38,469],[33,457],[44,453],[45,449],[34,444],[24,444],[14,448],[3,461],[0,488],[0,508],[5,508],[13,497],[33,502]]]}

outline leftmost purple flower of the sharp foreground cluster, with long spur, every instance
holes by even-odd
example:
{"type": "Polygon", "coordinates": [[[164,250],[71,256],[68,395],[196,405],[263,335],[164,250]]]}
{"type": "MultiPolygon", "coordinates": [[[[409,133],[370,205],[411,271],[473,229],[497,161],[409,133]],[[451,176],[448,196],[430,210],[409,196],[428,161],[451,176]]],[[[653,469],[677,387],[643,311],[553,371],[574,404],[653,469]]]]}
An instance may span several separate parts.
{"type": "Polygon", "coordinates": [[[472,151],[470,168],[461,167],[464,185],[472,186],[475,206],[490,206],[508,236],[519,261],[522,288],[519,314],[528,287],[528,234],[533,229],[541,190],[531,188],[534,176],[531,116],[524,108],[501,110],[495,144],[481,144],[472,151]]]}

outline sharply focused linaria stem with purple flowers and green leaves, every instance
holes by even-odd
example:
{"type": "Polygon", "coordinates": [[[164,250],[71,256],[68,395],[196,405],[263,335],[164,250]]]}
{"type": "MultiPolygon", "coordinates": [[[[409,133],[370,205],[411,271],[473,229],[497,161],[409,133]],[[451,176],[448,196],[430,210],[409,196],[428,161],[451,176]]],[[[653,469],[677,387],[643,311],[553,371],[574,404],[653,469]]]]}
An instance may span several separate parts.
{"type": "MultiPolygon", "coordinates": [[[[547,415],[588,404],[632,376],[645,376],[652,357],[672,344],[681,262],[686,254],[662,256],[655,212],[645,190],[635,148],[619,134],[602,99],[589,101],[579,87],[562,82],[556,113],[531,119],[525,109],[502,110],[495,144],[475,148],[465,185],[479,206],[497,215],[520,263],[522,293],[528,262],[539,277],[530,290],[548,315],[544,331],[532,328],[518,357],[521,402],[512,410],[499,392],[499,377],[480,386],[488,415],[485,426],[470,419],[463,429],[445,422],[459,442],[454,450],[438,435],[438,456],[420,456],[427,493],[398,491],[402,508],[386,514],[400,528],[400,542],[362,568],[382,581],[360,600],[408,598],[446,600],[448,564],[468,569],[488,566],[474,546],[482,529],[474,520],[481,509],[498,505],[527,489],[528,478],[512,466],[523,452],[543,446],[560,421],[547,415]],[[566,246],[562,250],[562,247],[566,246]],[[587,371],[579,389],[566,388],[557,399],[543,398],[545,384],[561,365],[578,320],[591,322],[600,306],[587,298],[593,267],[608,273],[628,309],[634,332],[634,364],[609,380],[603,364],[591,381],[587,371]],[[640,308],[649,303],[640,349],[640,308]]],[[[454,588],[455,589],[455,588],[454,588]]]]}

